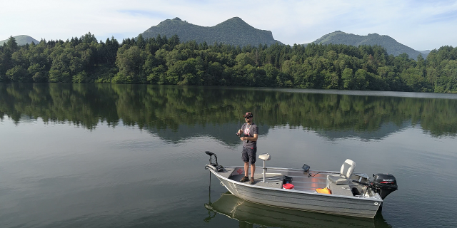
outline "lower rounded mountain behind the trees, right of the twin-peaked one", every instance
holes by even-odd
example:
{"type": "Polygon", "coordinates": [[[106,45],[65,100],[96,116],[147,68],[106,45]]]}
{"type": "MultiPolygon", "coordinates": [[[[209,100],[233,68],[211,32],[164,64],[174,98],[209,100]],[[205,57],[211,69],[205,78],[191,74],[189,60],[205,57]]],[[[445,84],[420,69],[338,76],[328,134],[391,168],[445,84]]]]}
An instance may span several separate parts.
{"type": "MultiPolygon", "coordinates": [[[[351,33],[345,33],[342,31],[334,31],[333,33],[328,33],[321,38],[318,38],[313,43],[322,43],[322,44],[346,44],[352,46],[360,46],[360,45],[378,45],[383,46],[386,48],[387,53],[389,55],[398,56],[401,53],[407,53],[409,58],[416,59],[419,54],[423,56],[423,58],[427,58],[428,53],[426,51],[419,52],[410,48],[406,45],[398,43],[395,39],[391,38],[390,36],[386,35],[379,35],[378,33],[368,34],[367,36],[359,36],[351,33]]],[[[428,51],[430,52],[430,51],[428,51]]]]}

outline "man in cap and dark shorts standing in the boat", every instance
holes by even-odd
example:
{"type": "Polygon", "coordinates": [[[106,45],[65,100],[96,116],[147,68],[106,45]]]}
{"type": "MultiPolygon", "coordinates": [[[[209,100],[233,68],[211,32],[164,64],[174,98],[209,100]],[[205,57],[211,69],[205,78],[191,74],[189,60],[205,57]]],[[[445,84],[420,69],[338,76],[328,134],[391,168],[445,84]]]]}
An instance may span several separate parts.
{"type": "Polygon", "coordinates": [[[244,162],[244,177],[241,178],[240,182],[247,182],[253,185],[254,183],[254,172],[256,171],[256,152],[257,152],[257,138],[258,138],[258,127],[253,123],[253,114],[247,112],[243,115],[246,123],[241,126],[241,129],[238,130],[236,135],[241,135],[240,140],[243,140],[243,152],[241,152],[241,157],[244,162]],[[251,165],[251,180],[248,177],[248,168],[251,165]]]}

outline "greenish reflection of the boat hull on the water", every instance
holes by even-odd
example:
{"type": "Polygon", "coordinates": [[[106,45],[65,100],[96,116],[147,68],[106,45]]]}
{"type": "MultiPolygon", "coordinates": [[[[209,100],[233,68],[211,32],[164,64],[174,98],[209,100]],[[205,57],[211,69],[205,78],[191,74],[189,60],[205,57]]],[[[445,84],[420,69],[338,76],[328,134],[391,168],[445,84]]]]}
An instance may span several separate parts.
{"type": "Polygon", "coordinates": [[[262,227],[391,227],[381,213],[374,219],[363,219],[303,212],[248,202],[230,192],[224,193],[215,202],[205,204],[205,207],[238,220],[240,225],[243,224],[240,227],[251,227],[252,224],[262,227]]]}

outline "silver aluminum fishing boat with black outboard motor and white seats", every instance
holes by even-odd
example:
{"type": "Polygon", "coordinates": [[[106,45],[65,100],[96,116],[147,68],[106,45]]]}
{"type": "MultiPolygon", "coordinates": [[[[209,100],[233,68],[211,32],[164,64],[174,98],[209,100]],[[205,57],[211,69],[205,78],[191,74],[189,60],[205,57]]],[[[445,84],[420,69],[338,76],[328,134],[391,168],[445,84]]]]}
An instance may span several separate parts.
{"type": "Polygon", "coordinates": [[[256,167],[256,181],[250,185],[239,182],[244,167],[223,167],[213,152],[206,154],[210,156],[210,163],[205,168],[231,194],[274,207],[373,218],[383,199],[398,189],[393,175],[379,173],[369,178],[366,174],[353,172],[356,163],[352,160],[343,162],[340,172],[311,170],[306,164],[301,169],[265,167],[265,161],[271,160],[268,154],[258,156],[263,160],[263,167],[256,167]]]}

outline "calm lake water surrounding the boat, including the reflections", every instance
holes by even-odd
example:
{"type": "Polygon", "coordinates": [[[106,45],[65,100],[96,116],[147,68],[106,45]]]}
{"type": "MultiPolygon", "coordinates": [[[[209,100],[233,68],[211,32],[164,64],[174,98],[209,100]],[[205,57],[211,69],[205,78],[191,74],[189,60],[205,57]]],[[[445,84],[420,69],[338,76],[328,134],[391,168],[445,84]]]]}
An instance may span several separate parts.
{"type": "Polygon", "coordinates": [[[0,84],[0,227],[457,227],[456,134],[457,95],[0,84]],[[226,194],[204,151],[241,165],[246,111],[268,166],[349,158],[398,191],[376,219],[226,194]]]}

